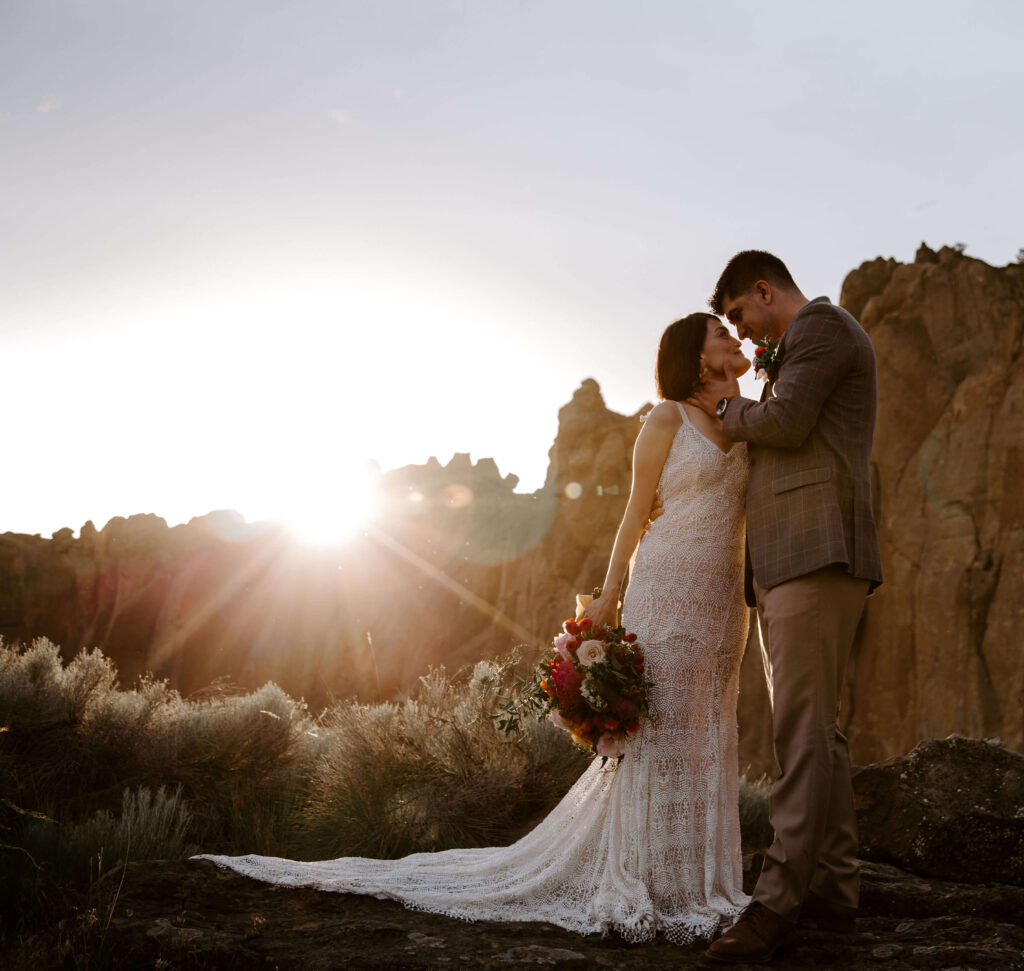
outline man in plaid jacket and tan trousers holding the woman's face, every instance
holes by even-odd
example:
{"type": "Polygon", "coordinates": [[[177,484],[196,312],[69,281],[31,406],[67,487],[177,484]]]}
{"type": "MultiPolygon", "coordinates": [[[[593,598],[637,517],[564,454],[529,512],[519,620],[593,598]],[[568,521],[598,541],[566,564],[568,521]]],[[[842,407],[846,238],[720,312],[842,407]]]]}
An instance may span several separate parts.
{"type": "MultiPolygon", "coordinates": [[[[857,829],[840,691],[864,599],[882,582],[868,461],[874,430],[871,342],[826,297],[808,300],[776,256],[737,253],[710,301],[740,339],[771,342],[760,402],[735,377],[691,398],[746,441],[748,603],[756,604],[781,774],[775,840],[754,898],[708,956],[771,960],[798,918],[852,929],[857,829]],[[753,594],[753,596],[752,596],[753,594]]],[[[726,365],[728,368],[728,365],[726,365]]]]}

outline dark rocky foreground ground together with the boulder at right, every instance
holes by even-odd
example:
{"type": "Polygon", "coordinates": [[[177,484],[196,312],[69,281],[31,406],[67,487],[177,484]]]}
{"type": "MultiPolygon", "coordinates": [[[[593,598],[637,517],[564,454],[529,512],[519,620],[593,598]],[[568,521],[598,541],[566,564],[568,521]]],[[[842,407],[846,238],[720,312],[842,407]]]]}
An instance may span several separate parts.
{"type": "MultiPolygon", "coordinates": [[[[853,934],[801,928],[772,967],[1024,971],[1024,756],[952,735],[855,773],[864,855],[853,934]],[[899,864],[892,866],[893,863],[899,864]],[[950,879],[951,878],[951,879],[950,879]],[[990,882],[989,882],[990,881],[990,882]]],[[[760,863],[744,860],[746,889],[760,863]]],[[[274,888],[208,861],[108,875],[92,951],[112,967],[712,967],[702,946],[547,924],[470,924],[371,897],[274,888]]]]}

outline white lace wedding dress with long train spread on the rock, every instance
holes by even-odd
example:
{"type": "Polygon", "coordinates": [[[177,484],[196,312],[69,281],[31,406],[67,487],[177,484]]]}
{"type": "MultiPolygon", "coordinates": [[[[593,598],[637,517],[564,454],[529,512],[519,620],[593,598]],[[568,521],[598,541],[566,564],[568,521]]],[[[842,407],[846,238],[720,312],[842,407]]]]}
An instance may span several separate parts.
{"type": "Polygon", "coordinates": [[[736,765],[746,470],[744,446],[723,453],[683,414],[662,472],[665,512],[640,543],[623,609],[644,646],[654,719],[617,765],[595,759],[517,843],[397,860],[200,858],[467,920],[547,921],[633,941],[713,936],[749,899],[736,765]]]}

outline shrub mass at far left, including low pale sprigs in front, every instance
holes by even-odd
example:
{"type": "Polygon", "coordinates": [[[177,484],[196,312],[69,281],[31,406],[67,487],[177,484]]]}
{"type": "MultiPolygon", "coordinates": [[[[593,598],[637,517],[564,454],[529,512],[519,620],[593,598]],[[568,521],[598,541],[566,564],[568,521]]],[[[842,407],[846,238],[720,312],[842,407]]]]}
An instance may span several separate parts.
{"type": "Polygon", "coordinates": [[[272,684],[186,701],[152,678],[119,689],[99,651],[0,643],[0,946],[85,913],[129,851],[288,852],[317,746],[272,684]]]}

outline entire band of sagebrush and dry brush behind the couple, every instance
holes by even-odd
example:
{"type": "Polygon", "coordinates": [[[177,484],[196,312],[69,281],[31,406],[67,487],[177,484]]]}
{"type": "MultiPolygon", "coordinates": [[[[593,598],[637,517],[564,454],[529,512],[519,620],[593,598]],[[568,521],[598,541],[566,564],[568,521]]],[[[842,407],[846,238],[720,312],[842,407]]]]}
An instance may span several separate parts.
{"type": "MultiPolygon", "coordinates": [[[[197,849],[298,859],[502,845],[564,795],[589,755],[546,721],[505,737],[492,715],[515,658],[410,698],[315,715],[269,683],[183,699],[118,686],[110,659],[0,641],[0,884],[9,938],[89,910],[121,861],[197,849]]],[[[744,841],[770,839],[764,784],[741,792],[744,841]]]]}

